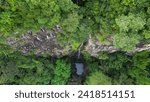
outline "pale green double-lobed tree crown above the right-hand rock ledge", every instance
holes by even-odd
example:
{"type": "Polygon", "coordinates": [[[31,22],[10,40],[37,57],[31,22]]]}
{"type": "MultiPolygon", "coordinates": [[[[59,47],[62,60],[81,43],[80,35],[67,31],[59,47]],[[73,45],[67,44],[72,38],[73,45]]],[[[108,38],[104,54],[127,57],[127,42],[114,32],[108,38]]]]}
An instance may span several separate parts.
{"type": "Polygon", "coordinates": [[[118,17],[116,24],[119,26],[119,32],[114,36],[114,45],[125,51],[135,49],[140,39],[138,32],[144,28],[145,20],[140,16],[129,14],[118,17]]]}

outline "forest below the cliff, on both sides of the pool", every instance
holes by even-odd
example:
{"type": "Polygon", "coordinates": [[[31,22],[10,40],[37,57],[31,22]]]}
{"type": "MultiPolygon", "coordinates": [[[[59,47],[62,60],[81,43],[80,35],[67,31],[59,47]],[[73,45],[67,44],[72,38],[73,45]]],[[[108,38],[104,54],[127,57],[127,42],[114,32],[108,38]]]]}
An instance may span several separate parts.
{"type": "MultiPolygon", "coordinates": [[[[149,52],[130,57],[114,53],[107,57],[96,59],[84,53],[84,63],[89,72],[85,84],[150,84],[149,52]]],[[[71,64],[65,58],[55,62],[49,57],[22,56],[18,52],[0,56],[0,84],[64,85],[70,76],[71,64]]]]}

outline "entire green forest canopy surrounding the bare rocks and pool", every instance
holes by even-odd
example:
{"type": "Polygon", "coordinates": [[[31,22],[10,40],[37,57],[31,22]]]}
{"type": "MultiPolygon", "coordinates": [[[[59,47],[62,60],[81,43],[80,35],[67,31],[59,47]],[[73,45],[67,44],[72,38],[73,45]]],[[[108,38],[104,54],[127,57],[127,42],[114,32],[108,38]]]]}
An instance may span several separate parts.
{"type": "Polygon", "coordinates": [[[0,0],[0,84],[150,84],[150,53],[126,54],[149,43],[150,0],[0,0]],[[58,27],[61,32],[54,29],[58,27]],[[54,41],[41,41],[43,36],[35,34],[40,29],[50,30],[54,41]],[[21,40],[21,36],[31,37],[26,33],[41,43],[35,46],[32,39],[21,40]],[[122,52],[100,52],[94,58],[81,51],[87,70],[84,78],[72,75],[74,55],[45,54],[62,48],[63,53],[77,51],[89,35],[122,52]],[[10,39],[21,41],[14,47],[10,39]],[[26,43],[34,45],[29,55],[15,49],[26,43]],[[43,48],[48,44],[58,49],[43,48]],[[45,55],[35,55],[41,47],[45,55]]]}

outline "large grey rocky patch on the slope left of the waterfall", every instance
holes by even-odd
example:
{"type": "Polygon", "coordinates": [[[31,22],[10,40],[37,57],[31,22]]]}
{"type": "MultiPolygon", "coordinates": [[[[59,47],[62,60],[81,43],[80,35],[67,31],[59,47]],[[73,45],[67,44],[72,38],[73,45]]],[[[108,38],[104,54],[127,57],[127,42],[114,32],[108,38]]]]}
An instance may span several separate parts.
{"type": "Polygon", "coordinates": [[[63,56],[64,49],[59,46],[56,40],[57,33],[62,33],[58,25],[51,30],[41,29],[37,33],[28,31],[18,40],[9,38],[8,44],[23,54],[33,53],[35,55],[49,54],[51,56],[63,56]]]}

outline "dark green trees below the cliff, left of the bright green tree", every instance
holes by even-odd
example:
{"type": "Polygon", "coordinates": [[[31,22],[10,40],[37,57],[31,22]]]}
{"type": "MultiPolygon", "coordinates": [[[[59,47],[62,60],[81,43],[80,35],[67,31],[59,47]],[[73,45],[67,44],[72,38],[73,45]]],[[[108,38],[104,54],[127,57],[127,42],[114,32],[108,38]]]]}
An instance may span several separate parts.
{"type": "Polygon", "coordinates": [[[17,53],[0,57],[0,84],[50,84],[53,64],[45,58],[20,56],[17,53]]]}

